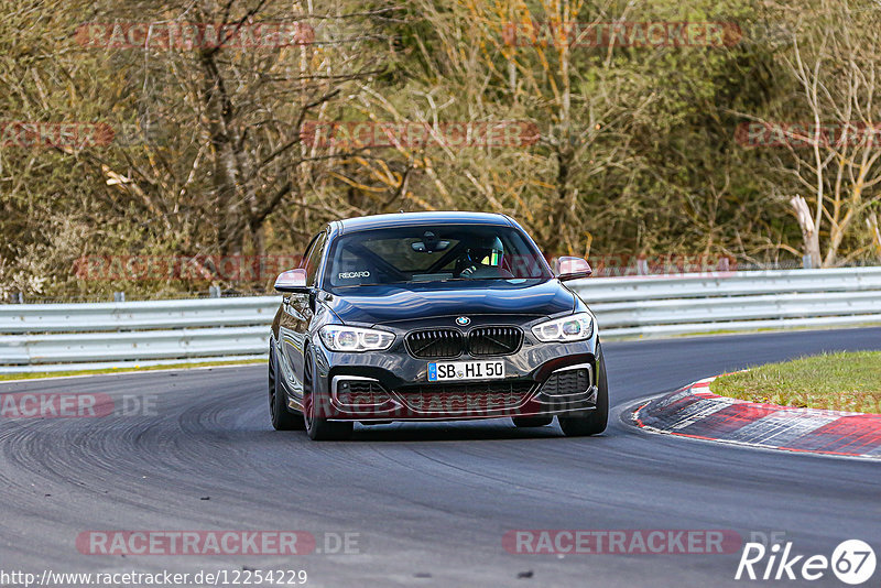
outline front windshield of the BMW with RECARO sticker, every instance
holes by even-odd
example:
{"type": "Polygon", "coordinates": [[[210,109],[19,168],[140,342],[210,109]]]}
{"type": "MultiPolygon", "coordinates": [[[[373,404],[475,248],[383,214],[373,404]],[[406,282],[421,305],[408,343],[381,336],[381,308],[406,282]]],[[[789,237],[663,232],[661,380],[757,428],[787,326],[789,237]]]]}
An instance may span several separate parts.
{"type": "Polygon", "coordinates": [[[455,280],[552,277],[541,254],[512,227],[480,225],[374,229],[337,239],[325,286],[423,284],[455,280]]]}

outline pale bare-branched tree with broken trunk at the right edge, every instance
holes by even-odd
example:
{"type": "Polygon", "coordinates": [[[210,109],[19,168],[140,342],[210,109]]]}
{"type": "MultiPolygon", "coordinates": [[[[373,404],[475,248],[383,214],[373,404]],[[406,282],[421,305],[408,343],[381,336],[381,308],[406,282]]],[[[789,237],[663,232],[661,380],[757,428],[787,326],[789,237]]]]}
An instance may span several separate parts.
{"type": "Polygon", "coordinates": [[[762,122],[766,139],[787,153],[774,157],[777,171],[801,193],[788,202],[804,252],[813,266],[829,268],[873,248],[866,221],[881,202],[881,11],[840,0],[813,4],[781,54],[795,80],[792,99],[776,121],[762,122]]]}

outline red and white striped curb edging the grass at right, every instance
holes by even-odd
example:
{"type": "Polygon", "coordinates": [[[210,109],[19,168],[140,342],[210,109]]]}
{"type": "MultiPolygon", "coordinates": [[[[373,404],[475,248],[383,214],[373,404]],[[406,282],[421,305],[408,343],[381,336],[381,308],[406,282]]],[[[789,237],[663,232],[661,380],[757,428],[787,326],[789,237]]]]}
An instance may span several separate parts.
{"type": "Polygon", "coordinates": [[[719,396],[716,377],[653,399],[633,413],[652,433],[881,460],[881,414],[793,409],[719,396]]]}

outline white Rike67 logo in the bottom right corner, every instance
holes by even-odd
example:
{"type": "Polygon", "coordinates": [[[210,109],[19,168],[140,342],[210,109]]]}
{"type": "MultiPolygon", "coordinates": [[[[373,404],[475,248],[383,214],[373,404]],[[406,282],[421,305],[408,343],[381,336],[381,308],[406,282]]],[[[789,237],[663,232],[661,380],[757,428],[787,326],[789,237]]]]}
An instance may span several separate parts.
{"type": "Polygon", "coordinates": [[[868,581],[875,569],[872,547],[860,540],[841,542],[827,557],[824,554],[804,555],[793,551],[793,543],[747,543],[740,555],[735,579],[808,581],[829,578],[830,573],[851,586],[868,581]]]}

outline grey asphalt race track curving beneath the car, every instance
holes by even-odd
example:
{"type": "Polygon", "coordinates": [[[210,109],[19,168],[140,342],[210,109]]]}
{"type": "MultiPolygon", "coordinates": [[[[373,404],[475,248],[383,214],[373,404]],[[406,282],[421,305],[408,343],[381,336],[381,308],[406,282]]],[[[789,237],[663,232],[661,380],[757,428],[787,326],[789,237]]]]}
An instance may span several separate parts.
{"type": "MultiPolygon", "coordinates": [[[[605,345],[613,412],[705,375],[822,350],[881,349],[881,329],[605,345]]],[[[148,414],[0,420],[0,570],[305,569],[306,586],[716,587],[725,555],[511,554],[511,530],[785,533],[831,555],[861,538],[881,557],[881,464],[507,420],[356,427],[311,443],[269,424],[265,368],[0,383],[0,392],[146,399],[148,414]],[[208,499],[208,500],[206,500],[208,499]],[[348,554],[83,555],[89,530],[302,530],[348,554]],[[331,535],[326,535],[326,534],[331,535]],[[329,540],[328,540],[329,541],[329,540]],[[335,542],[331,542],[335,543],[335,542]],[[357,553],[356,553],[357,552],[357,553]]],[[[324,547],[326,551],[326,547],[324,547]]],[[[808,585],[808,582],[804,582],[808,585]]],[[[844,586],[830,573],[812,586],[844,586]]],[[[881,586],[881,566],[864,586],[881,586]]]]}

